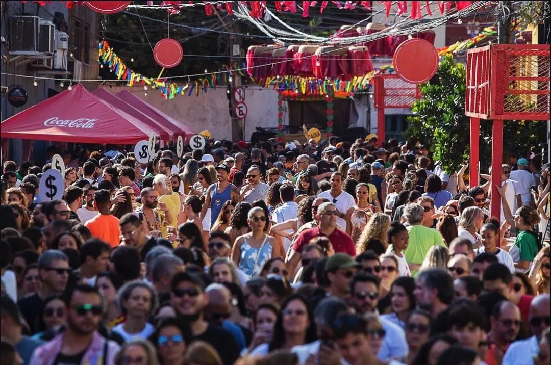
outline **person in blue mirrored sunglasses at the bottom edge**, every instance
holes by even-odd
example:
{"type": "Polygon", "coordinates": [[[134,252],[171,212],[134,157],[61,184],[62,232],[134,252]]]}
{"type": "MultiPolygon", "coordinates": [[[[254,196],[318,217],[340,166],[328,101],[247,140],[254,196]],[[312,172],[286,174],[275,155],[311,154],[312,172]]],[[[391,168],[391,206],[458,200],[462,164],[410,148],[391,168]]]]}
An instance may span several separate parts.
{"type": "Polygon", "coordinates": [[[169,317],[161,320],[150,340],[155,345],[161,364],[181,365],[187,345],[192,338],[191,329],[187,323],[181,319],[169,317]]]}

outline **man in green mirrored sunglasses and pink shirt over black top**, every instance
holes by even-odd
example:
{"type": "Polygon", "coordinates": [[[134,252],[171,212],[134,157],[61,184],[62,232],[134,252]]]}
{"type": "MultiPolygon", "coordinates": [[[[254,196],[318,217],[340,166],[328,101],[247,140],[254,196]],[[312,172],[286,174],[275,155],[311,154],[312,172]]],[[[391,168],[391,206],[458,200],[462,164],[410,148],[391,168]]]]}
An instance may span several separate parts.
{"type": "Polygon", "coordinates": [[[102,297],[78,285],[67,298],[67,329],[33,352],[30,364],[114,364],[120,346],[98,332],[102,297]]]}

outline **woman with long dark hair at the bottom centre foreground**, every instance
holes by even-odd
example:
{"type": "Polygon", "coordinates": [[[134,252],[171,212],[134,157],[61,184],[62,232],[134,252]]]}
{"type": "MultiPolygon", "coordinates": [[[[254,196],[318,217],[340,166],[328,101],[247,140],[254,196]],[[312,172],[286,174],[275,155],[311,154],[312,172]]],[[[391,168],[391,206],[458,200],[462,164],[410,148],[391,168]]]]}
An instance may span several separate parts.
{"type": "Polygon", "coordinates": [[[309,344],[316,340],[314,315],[300,295],[292,295],[282,303],[269,344],[262,344],[251,351],[252,356],[266,356],[275,350],[290,351],[293,346],[309,344]]]}

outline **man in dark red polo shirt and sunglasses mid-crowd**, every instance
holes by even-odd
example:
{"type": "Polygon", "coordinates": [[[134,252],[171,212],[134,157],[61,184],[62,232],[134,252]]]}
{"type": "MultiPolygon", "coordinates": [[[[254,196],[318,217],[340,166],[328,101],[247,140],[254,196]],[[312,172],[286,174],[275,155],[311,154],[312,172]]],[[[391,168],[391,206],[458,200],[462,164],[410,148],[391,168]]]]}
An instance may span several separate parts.
{"type": "Polygon", "coordinates": [[[356,249],[352,238],[346,232],[337,229],[338,214],[339,212],[333,203],[323,203],[318,206],[316,214],[318,226],[300,233],[300,236],[296,239],[291,248],[291,253],[287,260],[289,273],[295,272],[296,266],[300,262],[302,248],[309,244],[310,240],[315,237],[325,236],[329,238],[335,253],[347,253],[352,257],[356,255],[356,249]]]}

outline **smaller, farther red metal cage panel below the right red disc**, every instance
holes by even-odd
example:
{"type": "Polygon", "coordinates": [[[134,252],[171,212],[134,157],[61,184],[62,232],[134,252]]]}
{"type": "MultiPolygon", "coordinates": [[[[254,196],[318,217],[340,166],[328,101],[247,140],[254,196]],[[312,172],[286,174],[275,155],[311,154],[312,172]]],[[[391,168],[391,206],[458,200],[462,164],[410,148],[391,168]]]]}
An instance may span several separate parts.
{"type": "Polygon", "coordinates": [[[415,100],[421,99],[419,86],[397,74],[377,75],[373,80],[376,108],[410,108],[415,100]]]}

